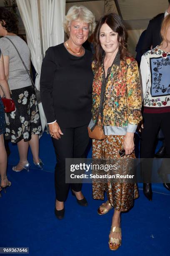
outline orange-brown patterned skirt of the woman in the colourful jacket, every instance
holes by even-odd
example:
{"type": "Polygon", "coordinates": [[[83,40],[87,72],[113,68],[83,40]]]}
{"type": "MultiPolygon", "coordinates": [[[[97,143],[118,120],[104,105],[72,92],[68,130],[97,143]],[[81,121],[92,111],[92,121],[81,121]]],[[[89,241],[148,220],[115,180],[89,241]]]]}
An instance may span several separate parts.
{"type": "MultiPolygon", "coordinates": [[[[124,136],[109,135],[103,141],[92,140],[92,158],[113,159],[120,158],[118,153],[123,148],[124,136]]],[[[123,158],[135,158],[132,153],[123,158]]],[[[110,204],[118,211],[128,211],[133,206],[133,200],[138,198],[137,184],[132,183],[107,183],[93,182],[92,192],[94,199],[104,200],[104,192],[107,192],[107,199],[110,204]]]]}

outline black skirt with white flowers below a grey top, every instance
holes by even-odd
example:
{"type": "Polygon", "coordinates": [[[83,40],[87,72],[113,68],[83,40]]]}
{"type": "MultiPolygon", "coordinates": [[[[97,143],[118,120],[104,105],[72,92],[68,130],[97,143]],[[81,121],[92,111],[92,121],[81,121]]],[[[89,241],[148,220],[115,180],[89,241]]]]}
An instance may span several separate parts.
{"type": "Polygon", "coordinates": [[[40,115],[32,86],[11,90],[15,110],[7,113],[5,139],[18,143],[22,139],[30,141],[32,134],[42,132],[40,115]]]}

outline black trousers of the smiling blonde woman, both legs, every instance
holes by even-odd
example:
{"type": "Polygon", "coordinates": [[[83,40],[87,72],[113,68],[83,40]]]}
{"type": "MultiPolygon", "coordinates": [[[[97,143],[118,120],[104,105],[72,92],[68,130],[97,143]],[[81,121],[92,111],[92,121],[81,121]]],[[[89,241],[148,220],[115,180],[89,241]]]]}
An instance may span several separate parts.
{"type": "MultiPolygon", "coordinates": [[[[55,166],[55,194],[58,201],[67,199],[70,184],[65,183],[65,158],[85,158],[89,143],[87,126],[61,128],[64,135],[59,140],[52,138],[57,163],[55,166]]],[[[71,184],[75,192],[81,191],[82,184],[71,184]]]]}

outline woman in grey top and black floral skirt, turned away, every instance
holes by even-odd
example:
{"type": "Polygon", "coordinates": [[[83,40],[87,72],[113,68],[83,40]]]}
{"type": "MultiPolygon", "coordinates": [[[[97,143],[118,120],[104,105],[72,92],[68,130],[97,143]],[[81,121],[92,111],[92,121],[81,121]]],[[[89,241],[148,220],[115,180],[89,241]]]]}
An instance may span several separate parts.
{"type": "Polygon", "coordinates": [[[15,15],[6,8],[0,7],[0,49],[4,57],[5,76],[8,79],[11,98],[15,102],[15,111],[8,114],[9,122],[6,125],[5,138],[17,143],[20,161],[13,166],[13,171],[20,172],[29,169],[27,160],[28,147],[30,145],[34,164],[42,169],[42,161],[39,159],[39,138],[42,127],[40,115],[35,98],[35,92],[31,85],[22,61],[15,47],[18,49],[27,69],[30,69],[30,50],[19,36],[18,21],[15,15]],[[13,44],[9,41],[9,39],[13,44]]]}

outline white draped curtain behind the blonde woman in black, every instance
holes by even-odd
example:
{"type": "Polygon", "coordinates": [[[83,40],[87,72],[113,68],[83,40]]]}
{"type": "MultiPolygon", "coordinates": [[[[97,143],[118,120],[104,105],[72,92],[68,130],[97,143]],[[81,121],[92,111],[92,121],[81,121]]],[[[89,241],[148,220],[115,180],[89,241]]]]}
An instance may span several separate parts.
{"type": "MultiPolygon", "coordinates": [[[[65,16],[65,0],[16,0],[23,20],[31,61],[37,73],[35,86],[40,89],[42,58],[50,46],[64,41],[62,22],[65,16]]],[[[46,118],[42,103],[38,104],[42,129],[46,118]]]]}

